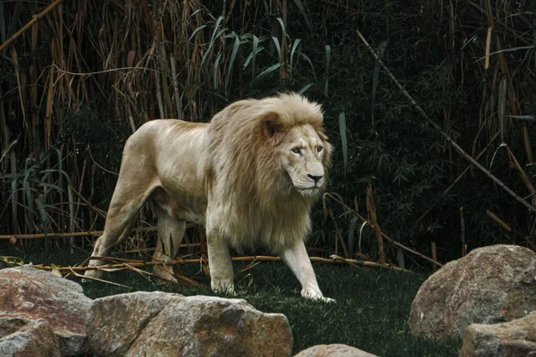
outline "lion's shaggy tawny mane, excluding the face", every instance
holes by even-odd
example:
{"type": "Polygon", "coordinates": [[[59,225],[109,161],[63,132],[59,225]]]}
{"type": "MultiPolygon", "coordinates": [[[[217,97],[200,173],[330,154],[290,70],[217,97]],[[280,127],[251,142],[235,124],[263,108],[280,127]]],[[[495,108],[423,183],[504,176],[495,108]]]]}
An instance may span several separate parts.
{"type": "Polygon", "coordinates": [[[219,212],[207,228],[214,226],[236,249],[262,244],[281,253],[304,239],[317,197],[292,187],[277,145],[289,129],[311,125],[322,140],[327,172],[331,145],[322,123],[321,106],[297,94],[247,99],[218,112],[208,125],[200,160],[209,210],[215,205],[219,212]]]}

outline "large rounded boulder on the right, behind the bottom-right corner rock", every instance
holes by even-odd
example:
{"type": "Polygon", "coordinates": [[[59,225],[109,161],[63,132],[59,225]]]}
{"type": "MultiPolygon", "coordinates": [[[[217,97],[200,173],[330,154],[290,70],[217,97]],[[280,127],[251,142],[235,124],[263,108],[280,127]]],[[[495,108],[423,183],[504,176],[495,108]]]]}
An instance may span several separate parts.
{"type": "Polygon", "coordinates": [[[472,323],[514,320],[534,310],[536,253],[492,245],[431,275],[415,296],[409,328],[417,336],[462,336],[472,323]]]}

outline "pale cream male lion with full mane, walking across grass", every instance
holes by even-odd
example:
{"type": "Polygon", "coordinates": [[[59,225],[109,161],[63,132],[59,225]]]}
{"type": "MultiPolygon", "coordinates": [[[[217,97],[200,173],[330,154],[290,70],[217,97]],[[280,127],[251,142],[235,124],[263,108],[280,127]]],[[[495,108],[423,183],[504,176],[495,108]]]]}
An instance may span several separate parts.
{"type": "MultiPolygon", "coordinates": [[[[262,245],[289,266],[302,296],[331,300],[322,295],[304,242],[330,163],[322,123],[321,105],[295,93],[240,100],[209,123],[148,121],[126,142],[92,256],[105,256],[129,237],[136,213],[152,199],[155,261],[175,256],[190,221],[206,228],[214,291],[234,292],[230,248],[262,245]]],[[[88,265],[102,263],[92,259],[88,265]]],[[[164,264],[155,274],[173,279],[164,264]]]]}

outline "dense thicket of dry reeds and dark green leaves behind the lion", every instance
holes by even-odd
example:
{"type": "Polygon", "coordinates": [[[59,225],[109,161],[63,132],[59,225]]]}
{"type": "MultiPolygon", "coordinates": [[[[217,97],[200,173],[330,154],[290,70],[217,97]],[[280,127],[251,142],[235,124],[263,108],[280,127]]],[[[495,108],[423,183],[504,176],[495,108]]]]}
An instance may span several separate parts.
{"type": "MultiPolygon", "coordinates": [[[[534,247],[534,212],[465,170],[356,34],[444,133],[533,205],[533,2],[58,0],[19,35],[47,5],[0,3],[1,40],[16,36],[0,57],[0,234],[102,228],[121,146],[143,122],[206,121],[289,89],[323,105],[330,192],[367,217],[371,184],[390,237],[427,255],[434,242],[441,262],[464,245],[534,247]]],[[[311,245],[378,258],[373,229],[348,207],[317,207],[311,245]]],[[[386,253],[394,262],[398,248],[386,253]]]]}

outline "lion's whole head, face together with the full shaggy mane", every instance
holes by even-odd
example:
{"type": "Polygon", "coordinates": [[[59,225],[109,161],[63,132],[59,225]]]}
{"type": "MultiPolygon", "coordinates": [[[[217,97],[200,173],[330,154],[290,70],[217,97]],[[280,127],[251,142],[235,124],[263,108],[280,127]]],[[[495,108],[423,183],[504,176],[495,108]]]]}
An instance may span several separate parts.
{"type": "Polygon", "coordinates": [[[214,116],[202,166],[229,235],[306,235],[330,162],[322,122],[321,106],[297,94],[242,100],[214,116]]]}

